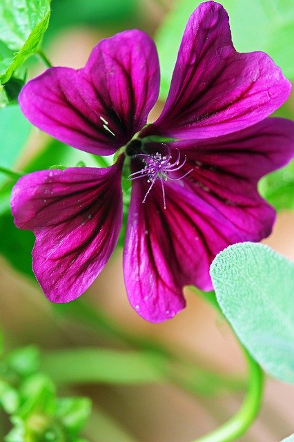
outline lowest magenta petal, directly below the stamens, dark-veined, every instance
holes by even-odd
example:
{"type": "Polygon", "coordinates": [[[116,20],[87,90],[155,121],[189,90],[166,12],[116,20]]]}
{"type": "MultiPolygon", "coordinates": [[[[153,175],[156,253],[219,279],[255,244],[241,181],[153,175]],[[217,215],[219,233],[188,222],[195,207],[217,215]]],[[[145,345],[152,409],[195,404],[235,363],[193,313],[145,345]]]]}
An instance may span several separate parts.
{"type": "Polygon", "coordinates": [[[212,289],[209,266],[229,244],[248,236],[180,181],[133,181],[124,249],[124,279],[130,304],[144,319],[161,322],[185,307],[184,285],[212,289]]]}

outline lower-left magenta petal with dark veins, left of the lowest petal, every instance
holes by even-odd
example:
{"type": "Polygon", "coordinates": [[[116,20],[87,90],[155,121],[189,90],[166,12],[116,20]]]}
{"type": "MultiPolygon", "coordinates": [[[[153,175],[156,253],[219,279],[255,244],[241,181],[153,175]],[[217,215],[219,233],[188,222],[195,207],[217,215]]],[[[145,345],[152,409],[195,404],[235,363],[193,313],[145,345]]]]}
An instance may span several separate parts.
{"type": "Polygon", "coordinates": [[[39,171],[14,186],[14,222],[35,233],[32,267],[52,302],[80,296],[115,249],[122,220],[119,169],[39,171]]]}

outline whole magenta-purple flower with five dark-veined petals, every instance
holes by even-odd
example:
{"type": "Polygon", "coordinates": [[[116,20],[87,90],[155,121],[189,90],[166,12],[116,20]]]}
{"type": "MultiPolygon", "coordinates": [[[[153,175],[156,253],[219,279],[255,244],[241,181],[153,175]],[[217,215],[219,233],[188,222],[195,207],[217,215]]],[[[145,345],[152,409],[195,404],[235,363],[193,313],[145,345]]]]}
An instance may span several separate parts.
{"type": "Polygon", "coordinates": [[[164,110],[153,41],[128,30],[101,41],[79,70],[50,68],[19,103],[32,124],[83,151],[111,155],[106,169],[39,171],[12,193],[20,229],[36,236],[33,269],[46,296],[67,302],[97,277],[117,244],[122,168],[132,184],[124,278],[145,319],[172,318],[184,285],[212,289],[209,266],[229,244],[271,233],[275,211],[257,182],[293,157],[294,124],[268,118],[290,83],[263,52],[239,54],[228,15],[202,3],[190,17],[164,110]]]}

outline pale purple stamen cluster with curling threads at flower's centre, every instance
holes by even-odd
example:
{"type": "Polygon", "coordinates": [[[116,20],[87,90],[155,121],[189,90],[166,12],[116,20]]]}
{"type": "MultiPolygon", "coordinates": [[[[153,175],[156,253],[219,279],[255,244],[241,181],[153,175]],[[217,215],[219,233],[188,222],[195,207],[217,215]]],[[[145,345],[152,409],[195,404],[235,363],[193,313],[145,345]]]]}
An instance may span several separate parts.
{"type": "MultiPolygon", "coordinates": [[[[134,140],[137,141],[137,140],[134,140]]],[[[165,145],[166,146],[166,145],[165,145]]],[[[144,168],[140,171],[131,173],[128,176],[128,180],[137,180],[138,178],[147,178],[147,182],[150,183],[149,189],[146,192],[146,195],[144,196],[144,200],[142,202],[146,202],[146,198],[148,194],[150,193],[150,190],[153,188],[155,182],[157,180],[160,181],[161,189],[162,189],[162,197],[164,200],[164,209],[166,209],[166,195],[164,192],[164,181],[167,180],[173,180],[178,181],[182,180],[188,173],[190,173],[193,169],[190,169],[190,171],[186,172],[181,177],[170,177],[170,173],[179,171],[179,169],[182,169],[184,164],[186,163],[186,155],[184,157],[184,160],[182,161],[182,164],[180,164],[181,161],[181,154],[177,150],[177,160],[174,162],[171,162],[171,153],[170,148],[166,146],[167,153],[166,155],[162,155],[161,153],[157,152],[155,154],[148,155],[147,153],[137,153],[135,155],[135,158],[139,158],[142,160],[142,162],[145,164],[144,168]]]]}

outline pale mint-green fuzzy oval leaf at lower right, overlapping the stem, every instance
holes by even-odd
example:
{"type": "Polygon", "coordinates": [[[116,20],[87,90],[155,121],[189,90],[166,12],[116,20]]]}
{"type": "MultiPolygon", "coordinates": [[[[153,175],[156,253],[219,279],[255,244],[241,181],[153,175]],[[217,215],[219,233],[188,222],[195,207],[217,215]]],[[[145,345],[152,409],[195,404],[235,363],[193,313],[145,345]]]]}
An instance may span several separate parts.
{"type": "Polygon", "coordinates": [[[234,244],[210,267],[217,301],[269,374],[294,382],[294,264],[264,244],[234,244]]]}

